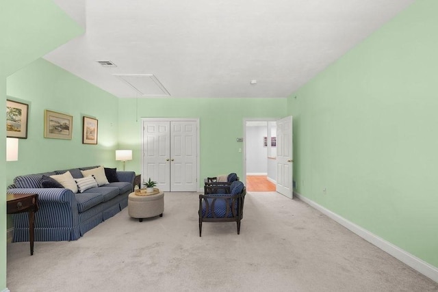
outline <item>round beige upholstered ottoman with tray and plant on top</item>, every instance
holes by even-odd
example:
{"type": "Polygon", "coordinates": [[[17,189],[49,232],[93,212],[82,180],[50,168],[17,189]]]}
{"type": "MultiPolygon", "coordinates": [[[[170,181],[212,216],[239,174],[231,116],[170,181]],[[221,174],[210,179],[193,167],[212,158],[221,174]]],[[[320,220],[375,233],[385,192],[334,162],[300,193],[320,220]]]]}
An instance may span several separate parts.
{"type": "Polygon", "coordinates": [[[138,218],[142,222],[143,218],[163,217],[164,193],[154,191],[153,194],[142,194],[139,191],[133,192],[128,196],[128,213],[133,218],[138,218]]]}

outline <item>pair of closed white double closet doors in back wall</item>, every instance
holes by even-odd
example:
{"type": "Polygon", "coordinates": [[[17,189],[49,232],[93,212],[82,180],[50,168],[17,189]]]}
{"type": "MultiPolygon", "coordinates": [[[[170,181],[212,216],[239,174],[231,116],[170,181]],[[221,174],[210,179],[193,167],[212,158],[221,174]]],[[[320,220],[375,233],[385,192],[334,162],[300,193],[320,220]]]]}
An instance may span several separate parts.
{"type": "Polygon", "coordinates": [[[198,119],[142,119],[142,177],[162,191],[197,191],[198,119]]]}

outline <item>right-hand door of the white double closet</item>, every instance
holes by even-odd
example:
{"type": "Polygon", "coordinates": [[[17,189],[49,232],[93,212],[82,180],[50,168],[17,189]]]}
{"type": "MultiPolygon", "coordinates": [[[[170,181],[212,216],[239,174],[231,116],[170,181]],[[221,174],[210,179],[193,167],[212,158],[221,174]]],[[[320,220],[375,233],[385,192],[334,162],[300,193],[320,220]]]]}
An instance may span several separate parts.
{"type": "Polygon", "coordinates": [[[197,190],[197,129],[194,121],[170,122],[170,189],[197,190]]]}

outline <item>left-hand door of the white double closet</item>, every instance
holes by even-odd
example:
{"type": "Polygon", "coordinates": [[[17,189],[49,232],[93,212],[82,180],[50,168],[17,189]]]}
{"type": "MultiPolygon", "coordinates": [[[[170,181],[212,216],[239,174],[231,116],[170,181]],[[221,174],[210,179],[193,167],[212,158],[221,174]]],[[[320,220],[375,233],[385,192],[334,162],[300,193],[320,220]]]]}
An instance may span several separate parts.
{"type": "Polygon", "coordinates": [[[148,121],[143,123],[142,181],[157,181],[161,191],[170,191],[170,123],[148,121]]]}

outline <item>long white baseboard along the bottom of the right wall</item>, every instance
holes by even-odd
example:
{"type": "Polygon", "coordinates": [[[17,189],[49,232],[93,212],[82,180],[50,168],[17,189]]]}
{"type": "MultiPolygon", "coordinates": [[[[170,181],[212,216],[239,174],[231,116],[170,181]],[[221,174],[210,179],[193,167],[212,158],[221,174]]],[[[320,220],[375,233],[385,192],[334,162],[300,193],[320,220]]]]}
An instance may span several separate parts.
{"type": "Polygon", "coordinates": [[[435,282],[438,282],[438,268],[434,267],[433,265],[430,265],[423,261],[420,258],[417,258],[416,256],[413,256],[412,254],[409,254],[409,252],[402,250],[401,248],[398,248],[398,246],[390,243],[389,241],[386,241],[385,239],[382,239],[381,237],[378,237],[377,235],[374,235],[373,233],[370,233],[370,231],[362,228],[361,226],[358,226],[348,220],[346,220],[344,217],[341,217],[337,215],[336,213],[333,213],[329,209],[326,209],[322,207],[320,204],[317,204],[313,202],[312,200],[309,200],[305,196],[301,196],[300,194],[294,192],[294,195],[302,200],[302,202],[305,202],[309,204],[311,207],[317,209],[321,213],[324,213],[325,215],[329,216],[331,219],[335,220],[337,223],[341,224],[345,228],[351,230],[353,233],[356,233],[366,241],[372,243],[373,245],[376,245],[376,247],[380,248],[384,252],[387,252],[388,254],[391,254],[391,256],[394,256],[394,258],[397,258],[402,263],[405,263],[406,265],[409,265],[409,267],[415,269],[416,271],[420,272],[424,276],[434,280],[435,282]]]}

